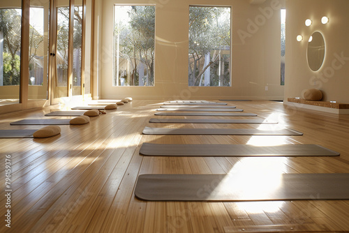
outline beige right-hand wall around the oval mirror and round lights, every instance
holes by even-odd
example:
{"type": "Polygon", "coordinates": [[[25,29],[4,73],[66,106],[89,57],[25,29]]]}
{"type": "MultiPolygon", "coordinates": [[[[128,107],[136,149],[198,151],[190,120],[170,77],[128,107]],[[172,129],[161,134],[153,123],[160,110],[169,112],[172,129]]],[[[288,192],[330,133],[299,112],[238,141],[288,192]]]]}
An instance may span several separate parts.
{"type": "Polygon", "coordinates": [[[318,88],[323,100],[349,103],[349,1],[348,0],[292,0],[286,2],[285,100],[301,97],[302,91],[318,88]],[[328,24],[320,22],[329,17],[328,24]],[[310,27],[304,22],[313,20],[310,27]],[[309,36],[320,31],[326,44],[325,61],[313,72],[306,60],[309,36]],[[298,42],[297,35],[304,36],[298,42]],[[346,59],[339,59],[345,57],[346,59]]]}

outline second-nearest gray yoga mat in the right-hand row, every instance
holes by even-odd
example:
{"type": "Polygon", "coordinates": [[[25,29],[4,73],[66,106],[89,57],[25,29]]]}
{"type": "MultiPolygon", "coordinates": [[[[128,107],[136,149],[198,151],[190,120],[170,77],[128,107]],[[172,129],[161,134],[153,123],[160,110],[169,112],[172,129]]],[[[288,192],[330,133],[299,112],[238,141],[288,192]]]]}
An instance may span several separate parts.
{"type": "Polygon", "coordinates": [[[252,146],[246,144],[151,144],[143,143],[143,156],[339,156],[339,153],[315,144],[252,146]]]}

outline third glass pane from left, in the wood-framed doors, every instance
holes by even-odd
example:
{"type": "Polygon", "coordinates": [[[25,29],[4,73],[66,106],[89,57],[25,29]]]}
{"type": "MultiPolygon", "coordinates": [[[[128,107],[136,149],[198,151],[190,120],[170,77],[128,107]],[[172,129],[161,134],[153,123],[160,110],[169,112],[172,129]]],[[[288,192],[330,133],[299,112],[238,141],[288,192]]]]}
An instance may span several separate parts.
{"type": "Polygon", "coordinates": [[[68,96],[69,6],[57,8],[57,75],[54,98],[68,96]]]}

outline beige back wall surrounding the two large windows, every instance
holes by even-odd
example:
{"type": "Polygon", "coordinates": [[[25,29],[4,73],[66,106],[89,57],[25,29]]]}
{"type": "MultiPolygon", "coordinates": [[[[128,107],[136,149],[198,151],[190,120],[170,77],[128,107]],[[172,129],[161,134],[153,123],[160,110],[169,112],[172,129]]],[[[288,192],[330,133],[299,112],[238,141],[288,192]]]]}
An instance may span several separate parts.
{"type": "Polygon", "coordinates": [[[103,33],[98,35],[102,46],[98,54],[102,61],[99,98],[283,99],[280,85],[282,2],[267,0],[251,5],[247,0],[214,1],[217,6],[232,7],[232,87],[188,87],[188,8],[189,5],[211,5],[212,1],[132,1],[156,3],[155,87],[112,87],[113,5],[130,1],[103,0],[103,14],[99,12],[103,33]],[[260,9],[270,10],[262,13],[260,9]],[[255,20],[259,20],[259,25],[251,27],[255,20]]]}

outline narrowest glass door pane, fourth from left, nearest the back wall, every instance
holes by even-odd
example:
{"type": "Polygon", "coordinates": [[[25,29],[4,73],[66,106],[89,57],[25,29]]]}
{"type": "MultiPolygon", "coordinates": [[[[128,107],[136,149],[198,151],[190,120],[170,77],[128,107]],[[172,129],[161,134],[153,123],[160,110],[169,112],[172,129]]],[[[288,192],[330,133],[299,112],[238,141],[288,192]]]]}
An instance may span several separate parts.
{"type": "Polygon", "coordinates": [[[75,1],[73,36],[73,96],[81,95],[82,1],[75,1]]]}

